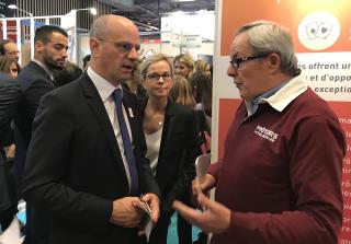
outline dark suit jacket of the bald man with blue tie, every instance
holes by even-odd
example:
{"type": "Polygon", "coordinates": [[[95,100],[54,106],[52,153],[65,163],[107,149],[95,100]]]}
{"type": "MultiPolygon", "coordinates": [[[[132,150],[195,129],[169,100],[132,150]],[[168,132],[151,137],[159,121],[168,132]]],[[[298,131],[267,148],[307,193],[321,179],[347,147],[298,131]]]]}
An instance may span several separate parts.
{"type": "MultiPolygon", "coordinates": [[[[139,194],[159,194],[145,158],[136,97],[124,93],[129,116],[139,194]],[[134,115],[131,117],[131,115],[134,115]]],[[[52,214],[52,244],[135,243],[136,229],[109,222],[113,200],[129,187],[103,102],[87,73],[42,100],[24,172],[24,198],[52,214]]]]}

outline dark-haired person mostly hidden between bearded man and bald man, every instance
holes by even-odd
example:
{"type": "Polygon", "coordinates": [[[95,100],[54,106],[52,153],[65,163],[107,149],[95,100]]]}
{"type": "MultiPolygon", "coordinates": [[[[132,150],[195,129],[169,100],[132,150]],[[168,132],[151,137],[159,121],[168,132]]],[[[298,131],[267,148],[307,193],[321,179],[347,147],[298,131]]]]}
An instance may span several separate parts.
{"type": "Polygon", "coordinates": [[[56,69],[53,71],[53,73],[57,85],[63,86],[77,80],[83,73],[83,71],[76,63],[66,61],[63,69],[56,69]]]}

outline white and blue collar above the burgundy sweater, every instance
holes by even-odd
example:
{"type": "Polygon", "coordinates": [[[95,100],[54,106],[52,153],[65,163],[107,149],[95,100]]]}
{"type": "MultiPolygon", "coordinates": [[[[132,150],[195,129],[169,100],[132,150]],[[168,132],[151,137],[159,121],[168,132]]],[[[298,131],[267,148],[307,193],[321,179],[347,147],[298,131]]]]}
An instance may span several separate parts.
{"type": "Polygon", "coordinates": [[[254,114],[258,104],[268,103],[274,109],[282,112],[292,101],[307,90],[307,83],[301,77],[295,77],[260,95],[250,102],[245,102],[248,115],[254,114]]]}

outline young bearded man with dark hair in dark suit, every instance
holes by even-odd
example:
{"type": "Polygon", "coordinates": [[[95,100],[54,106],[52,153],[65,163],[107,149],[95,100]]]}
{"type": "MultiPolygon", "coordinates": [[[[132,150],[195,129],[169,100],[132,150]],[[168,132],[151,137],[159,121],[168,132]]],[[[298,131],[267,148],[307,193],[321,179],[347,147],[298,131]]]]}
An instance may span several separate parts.
{"type": "Polygon", "coordinates": [[[56,88],[53,70],[63,69],[67,58],[68,35],[58,26],[44,25],[36,30],[34,59],[23,68],[18,80],[23,97],[14,116],[15,121],[15,166],[22,178],[26,149],[31,140],[32,123],[44,94],[56,88]]]}

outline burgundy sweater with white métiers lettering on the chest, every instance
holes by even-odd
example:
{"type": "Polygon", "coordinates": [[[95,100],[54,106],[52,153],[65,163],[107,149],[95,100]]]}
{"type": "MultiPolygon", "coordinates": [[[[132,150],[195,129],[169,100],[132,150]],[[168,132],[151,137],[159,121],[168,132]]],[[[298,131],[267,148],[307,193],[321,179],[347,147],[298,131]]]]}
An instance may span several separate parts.
{"type": "Polygon", "coordinates": [[[284,109],[247,118],[242,103],[225,154],[208,171],[216,201],[231,210],[220,244],[333,244],[342,223],[346,141],[327,103],[307,89],[284,109]]]}

